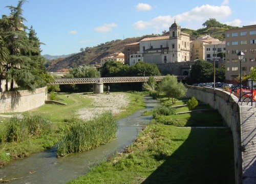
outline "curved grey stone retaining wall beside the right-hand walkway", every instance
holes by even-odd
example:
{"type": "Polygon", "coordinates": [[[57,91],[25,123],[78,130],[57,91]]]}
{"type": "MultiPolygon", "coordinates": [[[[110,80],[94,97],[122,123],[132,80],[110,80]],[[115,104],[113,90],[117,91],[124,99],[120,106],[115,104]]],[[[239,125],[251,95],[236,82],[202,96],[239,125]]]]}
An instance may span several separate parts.
{"type": "Polygon", "coordinates": [[[215,100],[213,88],[197,86],[188,86],[187,97],[195,97],[201,102],[208,103],[212,108],[218,109],[227,126],[230,127],[234,145],[236,183],[242,183],[241,116],[240,107],[236,102],[237,98],[231,96],[227,103],[229,93],[216,90],[215,100]]]}

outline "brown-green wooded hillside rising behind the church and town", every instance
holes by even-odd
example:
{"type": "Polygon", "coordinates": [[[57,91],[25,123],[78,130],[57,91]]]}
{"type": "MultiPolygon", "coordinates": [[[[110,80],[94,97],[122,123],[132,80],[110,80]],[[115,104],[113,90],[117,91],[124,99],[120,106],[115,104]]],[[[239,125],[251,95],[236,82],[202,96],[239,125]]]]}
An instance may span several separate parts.
{"type": "MultiPolygon", "coordinates": [[[[220,40],[225,39],[225,30],[235,28],[232,26],[224,25],[218,22],[214,18],[210,18],[203,23],[205,28],[198,29],[198,30],[191,30],[183,28],[181,29],[182,32],[187,33],[190,35],[190,40],[195,40],[197,37],[209,34],[214,38],[218,38],[220,40]]],[[[156,37],[156,36],[164,36],[168,35],[169,32],[163,31],[162,35],[144,35],[141,37],[134,37],[134,38],[126,38],[123,40],[112,40],[105,43],[101,43],[95,47],[87,47],[84,51],[80,53],[73,54],[67,58],[58,58],[55,60],[48,61],[47,63],[47,70],[49,72],[56,72],[60,71],[63,68],[70,68],[70,67],[77,67],[82,64],[99,64],[100,59],[106,57],[110,54],[117,53],[117,52],[124,52],[124,45],[130,44],[134,42],[138,42],[145,37],[156,37]]]]}

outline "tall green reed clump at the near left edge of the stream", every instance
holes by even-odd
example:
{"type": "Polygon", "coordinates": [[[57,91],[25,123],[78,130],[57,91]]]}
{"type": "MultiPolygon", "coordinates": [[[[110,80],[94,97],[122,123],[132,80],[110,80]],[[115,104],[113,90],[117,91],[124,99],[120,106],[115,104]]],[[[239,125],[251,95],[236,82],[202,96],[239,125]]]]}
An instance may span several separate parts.
{"type": "Polygon", "coordinates": [[[57,144],[57,156],[94,149],[115,138],[117,122],[111,112],[90,121],[74,119],[63,139],[57,144]]]}

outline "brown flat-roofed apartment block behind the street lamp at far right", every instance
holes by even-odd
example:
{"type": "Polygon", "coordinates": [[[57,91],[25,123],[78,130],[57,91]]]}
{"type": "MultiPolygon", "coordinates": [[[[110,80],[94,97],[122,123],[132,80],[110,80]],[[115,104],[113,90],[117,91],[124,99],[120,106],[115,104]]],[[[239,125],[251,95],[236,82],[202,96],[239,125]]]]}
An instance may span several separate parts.
{"type": "Polygon", "coordinates": [[[230,29],[226,34],[226,80],[234,80],[240,75],[238,52],[244,52],[241,62],[242,75],[247,75],[256,66],[256,25],[230,29]]]}

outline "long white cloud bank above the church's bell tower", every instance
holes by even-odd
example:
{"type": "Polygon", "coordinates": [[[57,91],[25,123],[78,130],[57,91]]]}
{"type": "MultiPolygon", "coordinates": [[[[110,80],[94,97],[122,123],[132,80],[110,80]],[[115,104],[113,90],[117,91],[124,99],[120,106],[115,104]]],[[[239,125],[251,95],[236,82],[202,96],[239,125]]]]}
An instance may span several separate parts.
{"type": "Polygon", "coordinates": [[[193,22],[194,26],[199,24],[200,26],[209,18],[223,19],[228,17],[231,14],[231,9],[229,6],[211,6],[211,5],[202,5],[200,7],[195,7],[190,11],[175,15],[171,17],[170,15],[158,16],[149,21],[139,20],[133,24],[135,29],[166,29],[173,22],[174,19],[178,22],[186,22],[189,24],[193,22]]]}

